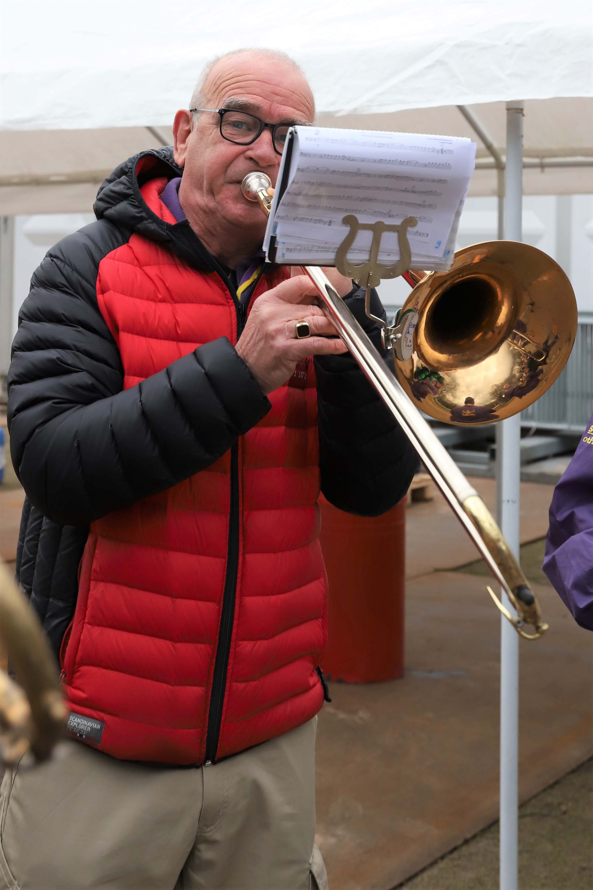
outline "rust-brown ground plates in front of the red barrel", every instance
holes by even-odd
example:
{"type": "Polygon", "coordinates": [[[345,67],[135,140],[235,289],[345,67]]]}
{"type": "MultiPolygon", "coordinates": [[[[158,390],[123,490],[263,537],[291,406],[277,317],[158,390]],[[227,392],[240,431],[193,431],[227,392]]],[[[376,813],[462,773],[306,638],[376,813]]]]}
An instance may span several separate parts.
{"type": "MultiPolygon", "coordinates": [[[[337,890],[391,890],[497,818],[500,621],[484,582],[408,580],[405,677],[330,684],[317,841],[337,890]]],[[[551,587],[535,592],[550,630],[521,643],[521,800],[593,756],[591,637],[551,587]]]]}

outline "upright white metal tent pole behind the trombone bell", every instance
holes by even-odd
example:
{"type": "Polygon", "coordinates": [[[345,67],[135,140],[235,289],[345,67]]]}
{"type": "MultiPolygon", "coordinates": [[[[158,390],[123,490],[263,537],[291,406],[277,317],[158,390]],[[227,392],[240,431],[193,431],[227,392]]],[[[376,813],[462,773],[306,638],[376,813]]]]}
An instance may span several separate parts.
{"type": "MultiPolygon", "coordinates": [[[[523,203],[522,101],[507,102],[507,164],[504,236],[522,240],[523,203]]],[[[520,414],[502,421],[497,429],[497,500],[501,530],[518,558],[520,414]]],[[[514,614],[509,598],[502,600],[514,614]]],[[[517,890],[519,637],[501,616],[501,890],[517,890]]]]}

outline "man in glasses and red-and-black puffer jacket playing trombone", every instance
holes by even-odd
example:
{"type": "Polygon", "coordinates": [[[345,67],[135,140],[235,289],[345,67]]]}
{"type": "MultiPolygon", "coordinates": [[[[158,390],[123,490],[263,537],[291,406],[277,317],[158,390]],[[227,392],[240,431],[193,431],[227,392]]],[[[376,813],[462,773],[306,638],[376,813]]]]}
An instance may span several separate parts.
{"type": "Polygon", "coordinates": [[[118,166],[33,276],[9,380],[18,574],[77,743],[7,773],[5,886],[326,886],[317,497],[381,514],[416,457],[241,196],[314,113],[283,53],[214,61],[173,150],[118,166]]]}

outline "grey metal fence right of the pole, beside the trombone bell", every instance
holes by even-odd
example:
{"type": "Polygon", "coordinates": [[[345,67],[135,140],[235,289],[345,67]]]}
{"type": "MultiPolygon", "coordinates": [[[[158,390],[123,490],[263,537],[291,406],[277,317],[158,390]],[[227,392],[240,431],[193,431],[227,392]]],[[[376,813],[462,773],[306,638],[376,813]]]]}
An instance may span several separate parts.
{"type": "MultiPolygon", "coordinates": [[[[398,306],[386,306],[393,318],[398,306]]],[[[523,426],[581,433],[593,414],[593,312],[579,314],[573,352],[556,383],[521,414],[523,426]]]]}

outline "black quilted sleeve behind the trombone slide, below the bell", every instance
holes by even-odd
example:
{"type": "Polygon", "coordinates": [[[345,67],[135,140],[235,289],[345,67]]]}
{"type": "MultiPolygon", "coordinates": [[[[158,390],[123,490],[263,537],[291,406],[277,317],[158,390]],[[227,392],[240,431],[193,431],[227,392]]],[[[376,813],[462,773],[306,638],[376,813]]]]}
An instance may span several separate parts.
{"type": "MultiPolygon", "coordinates": [[[[365,315],[365,292],[345,297],[381,352],[381,330],[365,315]]],[[[373,315],[385,318],[373,290],[373,315]]],[[[316,356],[321,490],[333,506],[379,516],[408,490],[418,457],[405,433],[349,353],[316,356]]]]}

